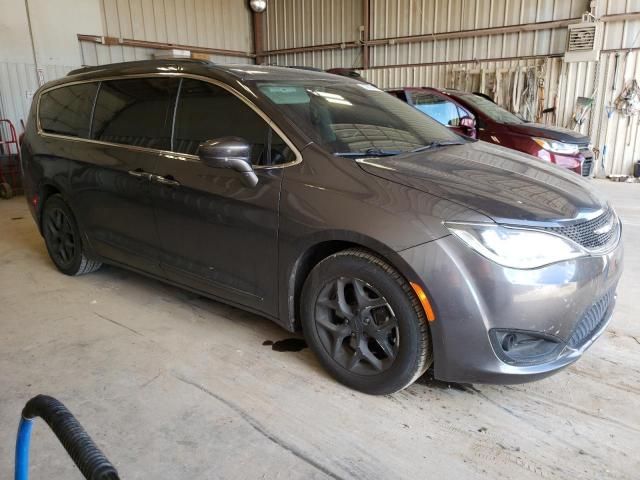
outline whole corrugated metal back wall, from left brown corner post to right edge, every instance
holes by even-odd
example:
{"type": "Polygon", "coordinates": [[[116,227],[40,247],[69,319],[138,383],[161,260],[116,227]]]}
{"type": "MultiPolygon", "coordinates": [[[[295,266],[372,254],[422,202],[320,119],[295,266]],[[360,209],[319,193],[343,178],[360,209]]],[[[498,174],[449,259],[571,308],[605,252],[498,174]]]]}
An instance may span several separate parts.
{"type": "MultiPolygon", "coordinates": [[[[266,14],[266,50],[350,43],[360,39],[365,23],[361,0],[270,0],[266,14]]],[[[578,18],[589,0],[371,0],[369,38],[372,41],[408,35],[431,35],[578,18]]],[[[596,15],[640,12],[640,0],[598,0],[596,15]]],[[[607,22],[603,49],[640,47],[640,20],[607,22]],[[633,42],[635,40],[635,45],[633,42]]],[[[609,118],[610,104],[631,78],[640,80],[640,52],[619,57],[617,84],[612,90],[615,53],[600,62],[564,63],[567,27],[370,46],[370,69],[362,73],[382,88],[453,86],[460,72],[516,71],[537,66],[544,79],[544,107],[556,106],[543,121],[590,133],[604,156],[606,173],[629,173],[640,160],[638,117],[618,113],[609,118]],[[539,58],[518,59],[539,56],[539,58]],[[506,59],[500,61],[500,59],[506,59]],[[624,68],[623,60],[626,59],[624,68]],[[438,65],[420,65],[442,62],[438,65]],[[406,64],[417,64],[402,66],[406,64]],[[624,70],[624,72],[623,72],[624,70]],[[575,127],[578,96],[596,95],[587,120],[575,127]],[[613,99],[613,100],[612,100],[613,99]],[[605,149],[605,145],[607,148],[605,149]]],[[[267,55],[266,63],[318,68],[361,67],[359,47],[267,55]]],[[[480,75],[481,77],[481,75],[480,75]]],[[[599,172],[602,174],[602,171],[599,172]]]]}

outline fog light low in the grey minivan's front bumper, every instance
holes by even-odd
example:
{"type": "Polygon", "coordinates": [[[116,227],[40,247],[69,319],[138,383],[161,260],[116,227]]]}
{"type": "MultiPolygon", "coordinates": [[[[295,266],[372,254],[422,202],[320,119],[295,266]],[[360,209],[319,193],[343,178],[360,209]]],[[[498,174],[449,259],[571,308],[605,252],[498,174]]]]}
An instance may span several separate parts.
{"type": "Polygon", "coordinates": [[[556,337],[522,330],[489,332],[493,350],[500,360],[511,365],[537,365],[555,360],[564,343],[556,337]]]}

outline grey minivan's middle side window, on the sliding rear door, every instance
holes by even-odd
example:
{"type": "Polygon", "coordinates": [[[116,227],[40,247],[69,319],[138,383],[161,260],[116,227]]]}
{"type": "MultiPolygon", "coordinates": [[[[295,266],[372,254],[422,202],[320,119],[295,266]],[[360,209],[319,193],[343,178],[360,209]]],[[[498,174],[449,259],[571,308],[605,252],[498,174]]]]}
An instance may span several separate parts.
{"type": "Polygon", "coordinates": [[[178,83],[155,77],[102,82],[91,138],[169,150],[178,83]]]}

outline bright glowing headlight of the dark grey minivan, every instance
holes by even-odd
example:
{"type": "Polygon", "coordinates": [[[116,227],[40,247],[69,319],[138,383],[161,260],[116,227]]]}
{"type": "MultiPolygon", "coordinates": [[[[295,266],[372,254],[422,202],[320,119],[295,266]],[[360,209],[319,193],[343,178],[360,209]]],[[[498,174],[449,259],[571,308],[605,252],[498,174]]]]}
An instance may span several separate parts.
{"type": "Polygon", "coordinates": [[[509,268],[539,268],[588,255],[577,243],[552,233],[483,223],[445,223],[480,255],[509,268]]]}

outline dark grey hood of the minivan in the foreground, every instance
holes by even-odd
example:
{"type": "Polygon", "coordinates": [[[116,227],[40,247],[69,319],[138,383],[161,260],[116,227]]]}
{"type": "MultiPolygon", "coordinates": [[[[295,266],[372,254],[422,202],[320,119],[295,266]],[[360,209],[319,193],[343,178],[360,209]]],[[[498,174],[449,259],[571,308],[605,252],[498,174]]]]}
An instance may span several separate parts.
{"type": "MultiPolygon", "coordinates": [[[[358,163],[372,175],[456,202],[503,224],[561,226],[607,207],[589,181],[576,173],[485,142],[358,163]]],[[[456,220],[446,212],[442,218],[456,220]]]]}

